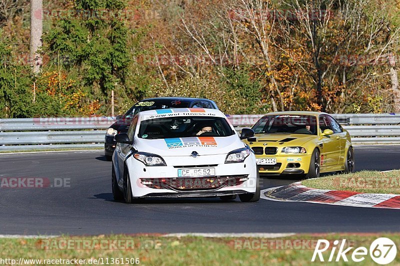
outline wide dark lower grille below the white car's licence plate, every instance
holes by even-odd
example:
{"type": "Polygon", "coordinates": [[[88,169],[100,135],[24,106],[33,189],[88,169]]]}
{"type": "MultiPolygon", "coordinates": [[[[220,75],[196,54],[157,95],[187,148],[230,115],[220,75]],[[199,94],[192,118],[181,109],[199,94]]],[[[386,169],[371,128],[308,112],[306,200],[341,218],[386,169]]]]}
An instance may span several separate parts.
{"type": "Polygon", "coordinates": [[[242,184],[248,175],[183,177],[183,178],[140,178],[140,183],[152,189],[172,189],[175,191],[216,190],[242,184]]]}

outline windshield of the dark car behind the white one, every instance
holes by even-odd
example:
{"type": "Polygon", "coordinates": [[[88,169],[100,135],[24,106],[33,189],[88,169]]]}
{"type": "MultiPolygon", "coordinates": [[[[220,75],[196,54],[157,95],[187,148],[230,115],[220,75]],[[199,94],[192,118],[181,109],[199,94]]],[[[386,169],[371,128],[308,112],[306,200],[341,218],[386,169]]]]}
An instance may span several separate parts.
{"type": "Polygon", "coordinates": [[[124,118],[132,118],[138,112],[155,110],[155,109],[166,109],[166,108],[186,108],[189,106],[189,102],[183,102],[180,100],[148,100],[140,101],[133,105],[124,115],[124,118]]]}

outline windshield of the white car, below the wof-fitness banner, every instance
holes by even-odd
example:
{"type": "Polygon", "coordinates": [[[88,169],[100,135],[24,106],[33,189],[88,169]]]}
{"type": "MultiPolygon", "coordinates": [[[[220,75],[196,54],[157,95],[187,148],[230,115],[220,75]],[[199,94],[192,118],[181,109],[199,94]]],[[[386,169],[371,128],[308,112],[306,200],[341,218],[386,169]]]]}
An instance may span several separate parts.
{"type": "Polygon", "coordinates": [[[235,134],[225,118],[179,116],[143,120],[138,137],[169,139],[187,137],[227,137],[235,134]]]}

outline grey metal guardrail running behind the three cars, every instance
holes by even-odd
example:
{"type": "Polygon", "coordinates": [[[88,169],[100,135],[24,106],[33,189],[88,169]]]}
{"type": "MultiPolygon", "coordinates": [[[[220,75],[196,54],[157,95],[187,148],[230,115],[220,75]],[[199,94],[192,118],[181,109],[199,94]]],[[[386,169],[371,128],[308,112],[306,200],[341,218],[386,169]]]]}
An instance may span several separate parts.
{"type": "MultiPolygon", "coordinates": [[[[237,130],[263,115],[227,115],[237,130]]],[[[333,114],[353,144],[400,144],[400,115],[333,114]]],[[[101,148],[113,117],[0,119],[0,151],[101,148]]]]}

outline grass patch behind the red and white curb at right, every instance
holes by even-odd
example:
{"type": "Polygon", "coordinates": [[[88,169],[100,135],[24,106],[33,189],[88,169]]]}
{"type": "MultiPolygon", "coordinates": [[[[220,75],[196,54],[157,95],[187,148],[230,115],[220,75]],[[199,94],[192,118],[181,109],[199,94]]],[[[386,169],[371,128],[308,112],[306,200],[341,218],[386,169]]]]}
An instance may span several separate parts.
{"type": "Polygon", "coordinates": [[[315,189],[346,190],[361,193],[400,194],[400,171],[381,173],[360,171],[304,180],[302,185],[315,189]]]}

